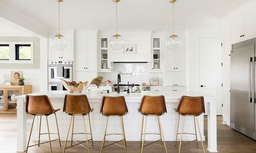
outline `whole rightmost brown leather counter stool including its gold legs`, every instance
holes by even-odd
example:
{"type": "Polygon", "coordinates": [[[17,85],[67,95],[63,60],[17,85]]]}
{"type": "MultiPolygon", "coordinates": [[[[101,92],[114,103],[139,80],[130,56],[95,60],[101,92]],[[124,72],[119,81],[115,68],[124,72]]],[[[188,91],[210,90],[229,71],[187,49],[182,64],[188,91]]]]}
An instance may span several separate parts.
{"type": "Polygon", "coordinates": [[[175,139],[175,146],[177,144],[177,140],[180,140],[179,142],[179,153],[180,153],[180,148],[184,145],[187,144],[192,144],[192,142],[196,141],[196,144],[192,144],[195,145],[197,147],[201,147],[204,150],[205,153],[205,148],[204,148],[204,144],[203,144],[203,140],[202,140],[202,136],[201,136],[201,132],[200,132],[200,127],[199,127],[199,123],[197,120],[197,117],[203,113],[205,113],[205,103],[204,103],[204,97],[200,96],[200,97],[188,97],[188,96],[182,96],[177,109],[174,108],[174,111],[177,112],[180,115],[183,116],[183,122],[182,122],[182,130],[181,133],[178,133],[178,129],[179,129],[179,116],[178,116],[178,124],[177,124],[177,133],[176,133],[176,139],[175,139]],[[186,116],[192,116],[194,118],[194,125],[195,125],[195,134],[194,133],[183,133],[183,128],[184,128],[184,121],[185,121],[185,117],[186,116]],[[197,121],[197,127],[198,127],[198,131],[200,134],[200,139],[202,142],[202,146],[198,145],[197,142],[197,129],[196,129],[196,122],[195,119],[197,121]],[[180,139],[177,139],[178,134],[181,134],[180,139]],[[183,134],[192,134],[196,136],[196,139],[190,142],[186,142],[182,140],[182,135],[183,134]],[[181,145],[181,142],[186,142],[186,144],[181,145]]]}

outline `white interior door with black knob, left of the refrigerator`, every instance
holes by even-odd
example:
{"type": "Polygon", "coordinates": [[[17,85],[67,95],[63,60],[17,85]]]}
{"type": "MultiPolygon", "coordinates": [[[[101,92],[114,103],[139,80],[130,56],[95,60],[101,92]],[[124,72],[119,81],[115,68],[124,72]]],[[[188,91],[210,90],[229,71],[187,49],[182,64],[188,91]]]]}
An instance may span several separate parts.
{"type": "Polygon", "coordinates": [[[200,92],[218,97],[217,115],[222,115],[221,38],[199,38],[199,67],[200,92]]]}

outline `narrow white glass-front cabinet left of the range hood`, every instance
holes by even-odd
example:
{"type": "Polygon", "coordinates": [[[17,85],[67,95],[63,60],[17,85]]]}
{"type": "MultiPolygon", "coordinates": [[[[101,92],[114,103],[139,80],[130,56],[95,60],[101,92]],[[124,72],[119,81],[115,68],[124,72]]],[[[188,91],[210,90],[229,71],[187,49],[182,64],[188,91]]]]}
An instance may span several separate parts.
{"type": "Polygon", "coordinates": [[[108,36],[99,36],[98,72],[111,72],[108,36]]]}

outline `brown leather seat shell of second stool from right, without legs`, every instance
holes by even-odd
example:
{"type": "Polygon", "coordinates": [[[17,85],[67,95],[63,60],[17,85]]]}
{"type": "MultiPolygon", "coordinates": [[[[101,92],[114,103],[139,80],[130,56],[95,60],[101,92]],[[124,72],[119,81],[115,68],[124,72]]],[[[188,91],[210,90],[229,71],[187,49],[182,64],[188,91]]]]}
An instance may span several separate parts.
{"type": "Polygon", "coordinates": [[[164,96],[144,95],[139,112],[144,115],[163,115],[167,113],[164,96]]]}

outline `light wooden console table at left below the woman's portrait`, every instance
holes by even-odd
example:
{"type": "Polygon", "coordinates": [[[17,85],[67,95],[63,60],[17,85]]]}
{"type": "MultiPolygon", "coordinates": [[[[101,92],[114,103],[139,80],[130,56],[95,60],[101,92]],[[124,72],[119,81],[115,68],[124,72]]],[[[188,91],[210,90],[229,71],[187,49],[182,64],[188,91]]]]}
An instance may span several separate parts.
{"type": "Polygon", "coordinates": [[[0,113],[16,113],[17,109],[17,99],[14,97],[8,96],[8,91],[11,91],[12,94],[16,94],[16,96],[31,94],[32,93],[32,85],[24,85],[24,86],[0,86],[0,113]],[[17,92],[19,91],[19,93],[17,92]],[[2,97],[3,96],[3,97],[2,97]]]}

